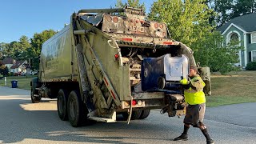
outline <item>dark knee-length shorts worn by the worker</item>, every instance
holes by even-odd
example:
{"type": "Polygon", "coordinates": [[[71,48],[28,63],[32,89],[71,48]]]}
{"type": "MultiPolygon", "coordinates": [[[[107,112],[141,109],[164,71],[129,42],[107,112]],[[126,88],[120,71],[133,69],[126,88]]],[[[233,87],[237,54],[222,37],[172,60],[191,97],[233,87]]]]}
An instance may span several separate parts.
{"type": "Polygon", "coordinates": [[[190,124],[192,126],[198,126],[198,122],[202,122],[205,117],[206,103],[198,105],[188,105],[186,106],[186,116],[184,118],[184,123],[190,124]]]}

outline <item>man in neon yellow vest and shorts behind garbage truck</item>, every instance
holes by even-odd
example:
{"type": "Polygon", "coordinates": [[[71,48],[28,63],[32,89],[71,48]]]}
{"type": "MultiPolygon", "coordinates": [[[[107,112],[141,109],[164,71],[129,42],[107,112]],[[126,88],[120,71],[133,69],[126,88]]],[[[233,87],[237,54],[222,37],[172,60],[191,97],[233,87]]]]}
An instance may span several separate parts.
{"type": "Polygon", "coordinates": [[[206,125],[202,122],[205,110],[206,110],[206,97],[203,93],[203,87],[206,86],[202,78],[197,74],[197,66],[190,66],[189,80],[183,78],[180,82],[184,87],[184,96],[186,106],[186,116],[184,118],[184,130],[183,133],[178,137],[174,138],[174,141],[186,141],[188,140],[188,130],[190,125],[198,127],[202,134],[206,137],[207,144],[213,144],[214,140],[210,138],[210,134],[206,129],[206,125]]]}

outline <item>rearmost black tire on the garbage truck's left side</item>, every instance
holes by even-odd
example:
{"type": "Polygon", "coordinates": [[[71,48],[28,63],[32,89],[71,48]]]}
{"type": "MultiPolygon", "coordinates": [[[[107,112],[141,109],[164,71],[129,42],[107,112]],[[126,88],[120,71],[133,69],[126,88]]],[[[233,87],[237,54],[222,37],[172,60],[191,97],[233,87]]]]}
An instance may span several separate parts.
{"type": "Polygon", "coordinates": [[[85,110],[86,106],[83,105],[78,91],[73,90],[70,92],[67,103],[68,118],[71,126],[81,126],[82,122],[86,122],[88,112],[85,110]]]}

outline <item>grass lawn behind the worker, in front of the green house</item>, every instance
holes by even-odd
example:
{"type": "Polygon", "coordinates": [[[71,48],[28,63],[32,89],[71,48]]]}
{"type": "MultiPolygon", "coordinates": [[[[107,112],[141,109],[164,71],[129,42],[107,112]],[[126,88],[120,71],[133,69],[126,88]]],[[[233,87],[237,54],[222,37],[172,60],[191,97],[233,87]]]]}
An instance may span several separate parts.
{"type": "Polygon", "coordinates": [[[207,106],[256,102],[256,71],[238,71],[228,75],[211,75],[212,95],[207,106]]]}

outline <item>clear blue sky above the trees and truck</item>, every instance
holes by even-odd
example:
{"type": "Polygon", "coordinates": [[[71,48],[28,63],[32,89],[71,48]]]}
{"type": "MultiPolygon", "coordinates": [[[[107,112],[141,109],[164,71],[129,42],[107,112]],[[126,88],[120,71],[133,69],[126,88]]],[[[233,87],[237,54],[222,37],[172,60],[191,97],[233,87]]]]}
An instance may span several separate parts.
{"type": "MultiPolygon", "coordinates": [[[[155,0],[145,2],[146,13],[155,0]]],[[[32,38],[43,30],[62,30],[70,15],[82,9],[114,7],[116,0],[3,0],[0,5],[0,43],[32,38]]],[[[122,0],[126,2],[126,0],[122,0]]]]}

